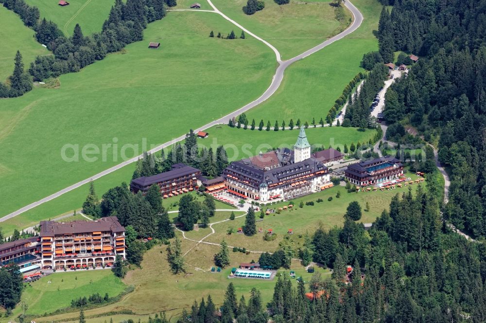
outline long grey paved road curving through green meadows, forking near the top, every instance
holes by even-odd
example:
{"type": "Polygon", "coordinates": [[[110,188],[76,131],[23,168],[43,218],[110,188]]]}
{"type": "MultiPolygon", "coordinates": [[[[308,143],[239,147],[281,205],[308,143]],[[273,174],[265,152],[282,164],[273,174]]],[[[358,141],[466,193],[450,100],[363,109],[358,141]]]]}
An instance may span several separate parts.
{"type": "MultiPolygon", "coordinates": [[[[266,99],[268,99],[269,97],[271,97],[278,89],[278,87],[280,86],[280,83],[282,82],[283,80],[283,73],[285,71],[285,69],[295,63],[296,61],[298,60],[301,60],[309,55],[311,55],[312,53],[315,53],[316,51],[322,49],[322,48],[325,48],[326,46],[332,44],[333,42],[339,40],[339,39],[342,39],[343,37],[349,35],[351,32],[354,32],[356,29],[358,29],[358,27],[361,25],[361,23],[363,22],[363,15],[361,14],[361,12],[349,1],[349,0],[346,0],[344,2],[344,5],[350,10],[351,14],[353,15],[353,22],[351,23],[351,25],[343,32],[337,34],[336,36],[334,37],[331,37],[330,39],[322,42],[321,44],[309,49],[309,50],[306,50],[305,52],[303,52],[302,54],[300,55],[297,55],[295,56],[294,58],[291,58],[290,60],[287,60],[287,61],[281,61],[280,60],[280,53],[278,52],[277,48],[273,47],[270,43],[268,43],[267,41],[261,39],[260,37],[258,37],[257,35],[255,35],[254,33],[248,31],[246,28],[244,28],[243,26],[241,26],[240,24],[238,24],[236,21],[230,19],[229,17],[227,17],[225,14],[223,14],[221,11],[219,11],[213,4],[210,0],[208,0],[208,3],[211,5],[211,7],[214,9],[214,12],[216,12],[217,14],[223,16],[226,20],[230,21],[231,23],[235,24],[236,26],[238,26],[239,28],[241,28],[242,30],[244,30],[245,32],[247,32],[248,34],[250,34],[251,36],[259,39],[261,42],[263,42],[265,45],[267,45],[268,47],[270,47],[274,52],[275,52],[275,55],[276,55],[276,58],[277,58],[277,62],[278,62],[278,67],[277,67],[277,71],[272,79],[272,82],[270,84],[270,86],[268,87],[268,89],[259,97],[257,98],[256,100],[248,103],[247,105],[245,105],[244,107],[232,112],[232,113],[229,113],[227,114],[226,116],[222,117],[222,118],[219,118],[217,120],[214,120],[210,123],[208,123],[207,125],[204,125],[200,128],[197,128],[197,129],[194,129],[195,132],[197,131],[202,131],[202,130],[205,130],[205,129],[208,129],[210,127],[213,127],[215,125],[218,125],[218,124],[222,124],[222,123],[227,123],[227,121],[230,119],[230,118],[233,118],[233,117],[237,117],[238,115],[240,115],[241,113],[243,112],[246,112],[248,110],[250,110],[251,108],[259,105],[260,103],[262,103],[263,101],[265,101],[266,99]]],[[[199,10],[198,10],[199,11],[199,10]]],[[[151,150],[149,150],[149,153],[155,153],[157,151],[160,151],[170,145],[173,145],[179,141],[182,141],[184,140],[185,138],[185,134],[178,137],[178,138],[175,138],[173,139],[172,141],[169,141],[165,144],[162,144],[162,145],[159,145],[151,150]]],[[[31,203],[17,211],[14,211],[8,215],[5,215],[4,217],[0,218],[0,222],[2,221],[5,221],[5,220],[8,220],[8,219],[11,219],[15,216],[17,216],[18,214],[21,214],[25,211],[28,211],[28,210],[31,210],[45,202],[48,202],[48,201],[51,201],[52,199],[56,198],[56,197],[59,197],[61,196],[62,194],[65,194],[65,193],[68,193],[82,185],[85,185],[87,183],[89,183],[91,180],[95,180],[95,179],[98,179],[98,178],[101,178],[107,174],[110,174],[128,164],[131,164],[132,162],[136,162],[137,160],[139,160],[139,158],[141,158],[142,155],[140,156],[137,156],[137,157],[134,157],[132,159],[129,159],[127,161],[123,161],[121,162],[120,164],[118,165],[115,165],[111,168],[108,168],[107,170],[104,170],[103,172],[101,173],[98,173],[90,178],[86,178],[82,181],[79,181],[65,189],[62,189],[61,191],[59,192],[56,192],[54,194],[51,194],[47,197],[44,197],[43,199],[39,200],[39,201],[36,201],[34,203],[31,203]]]]}

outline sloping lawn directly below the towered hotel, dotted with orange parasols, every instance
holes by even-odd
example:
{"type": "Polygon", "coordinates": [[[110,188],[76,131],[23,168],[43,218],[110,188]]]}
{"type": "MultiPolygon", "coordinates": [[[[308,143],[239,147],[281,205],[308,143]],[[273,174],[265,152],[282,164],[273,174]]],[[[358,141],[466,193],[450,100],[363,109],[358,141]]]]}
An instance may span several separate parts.
{"type": "MultiPolygon", "coordinates": [[[[417,176],[413,173],[406,173],[406,177],[416,179],[417,176]]],[[[422,185],[424,186],[424,185],[422,185]]],[[[382,213],[383,209],[389,207],[391,198],[395,194],[401,194],[408,192],[408,187],[412,188],[412,192],[417,189],[417,184],[397,188],[391,191],[377,191],[366,193],[347,193],[343,186],[335,186],[330,189],[321,191],[319,193],[307,195],[301,198],[296,198],[292,202],[284,202],[275,204],[273,206],[264,207],[270,209],[278,209],[289,203],[294,204],[293,210],[281,211],[280,214],[265,215],[263,221],[257,222],[257,228],[261,228],[263,233],[257,233],[256,236],[246,237],[243,234],[233,233],[228,235],[226,231],[232,227],[235,230],[238,227],[244,225],[244,217],[235,219],[234,221],[227,221],[213,225],[215,234],[210,235],[205,241],[220,243],[223,239],[231,246],[244,247],[248,250],[254,251],[269,251],[273,252],[278,248],[278,242],[287,236],[288,229],[293,229],[294,234],[290,236],[290,242],[292,242],[295,250],[302,244],[303,239],[301,235],[305,235],[306,232],[312,234],[315,229],[322,224],[326,229],[333,226],[342,226],[344,219],[343,215],[346,213],[348,204],[352,201],[358,201],[363,209],[363,216],[358,222],[371,223],[382,213]],[[336,198],[337,192],[341,192],[341,197],[336,198]],[[328,201],[328,198],[332,197],[332,201],[328,201]],[[323,202],[315,203],[315,201],[321,198],[323,202]],[[304,202],[304,207],[300,209],[298,207],[300,201],[304,202]],[[313,206],[305,205],[306,202],[314,201],[313,206]],[[370,210],[364,211],[366,202],[369,203],[370,210]],[[274,241],[264,241],[263,234],[272,229],[277,234],[277,239],[274,241]]],[[[260,220],[260,212],[256,212],[257,220],[260,220]]]]}

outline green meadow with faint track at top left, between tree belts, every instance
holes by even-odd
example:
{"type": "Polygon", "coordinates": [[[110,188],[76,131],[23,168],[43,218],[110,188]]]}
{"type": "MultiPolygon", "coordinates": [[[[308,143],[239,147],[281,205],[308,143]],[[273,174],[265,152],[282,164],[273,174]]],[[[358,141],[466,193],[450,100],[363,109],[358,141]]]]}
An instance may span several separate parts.
{"type": "Polygon", "coordinates": [[[40,17],[52,20],[65,35],[71,36],[74,26],[79,24],[85,35],[101,32],[104,20],[108,18],[114,0],[71,0],[69,5],[60,6],[57,0],[25,0],[39,8],[40,17]]]}

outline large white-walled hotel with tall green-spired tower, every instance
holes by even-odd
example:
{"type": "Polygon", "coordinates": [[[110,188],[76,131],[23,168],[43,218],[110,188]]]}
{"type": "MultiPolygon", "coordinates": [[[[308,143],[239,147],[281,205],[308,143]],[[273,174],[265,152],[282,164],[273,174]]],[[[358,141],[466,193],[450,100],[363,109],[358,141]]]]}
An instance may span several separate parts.
{"type": "Polygon", "coordinates": [[[227,191],[260,202],[292,199],[332,186],[328,168],[311,155],[304,128],[294,150],[283,148],[234,161],[223,171],[227,191]]]}

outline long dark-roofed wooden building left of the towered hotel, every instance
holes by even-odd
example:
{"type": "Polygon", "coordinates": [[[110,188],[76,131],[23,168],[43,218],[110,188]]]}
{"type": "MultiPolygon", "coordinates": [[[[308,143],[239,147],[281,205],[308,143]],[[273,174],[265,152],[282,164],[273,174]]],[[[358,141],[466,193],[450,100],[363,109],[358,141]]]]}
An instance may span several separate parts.
{"type": "Polygon", "coordinates": [[[164,197],[170,197],[195,190],[198,187],[197,178],[200,176],[199,169],[178,163],[172,165],[172,170],[168,172],[132,179],[130,191],[134,194],[139,191],[146,194],[151,185],[157,184],[160,187],[160,193],[164,197]]]}

